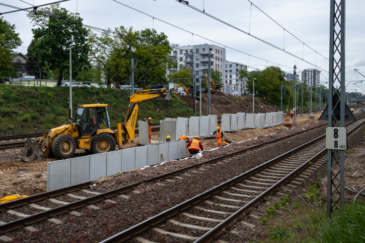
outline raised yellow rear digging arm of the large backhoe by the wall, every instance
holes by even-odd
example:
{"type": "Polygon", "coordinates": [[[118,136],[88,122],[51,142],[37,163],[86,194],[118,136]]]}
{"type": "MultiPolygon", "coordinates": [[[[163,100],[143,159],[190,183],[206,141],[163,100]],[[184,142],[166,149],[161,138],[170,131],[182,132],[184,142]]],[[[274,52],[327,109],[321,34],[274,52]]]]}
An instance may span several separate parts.
{"type": "MultiPolygon", "coordinates": [[[[139,103],[144,100],[170,100],[171,95],[166,93],[166,89],[149,89],[138,90],[136,94],[132,94],[128,97],[128,110],[126,119],[122,124],[122,131],[118,131],[118,134],[122,133],[123,143],[133,141],[135,137],[135,128],[137,123],[137,114],[139,103]]],[[[119,136],[119,135],[118,135],[119,136]]]]}

